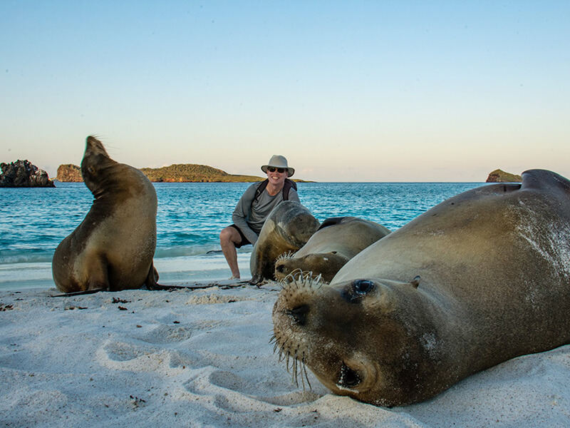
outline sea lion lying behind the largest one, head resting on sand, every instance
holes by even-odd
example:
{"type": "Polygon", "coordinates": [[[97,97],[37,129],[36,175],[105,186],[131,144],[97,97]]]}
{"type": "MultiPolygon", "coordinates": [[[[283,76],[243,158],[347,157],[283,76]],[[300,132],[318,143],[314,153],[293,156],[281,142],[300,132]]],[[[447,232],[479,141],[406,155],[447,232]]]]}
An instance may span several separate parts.
{"type": "Polygon", "coordinates": [[[281,255],[275,263],[275,279],[303,271],[331,282],[348,260],[388,233],[383,225],[362,218],[327,218],[299,251],[281,255]]]}

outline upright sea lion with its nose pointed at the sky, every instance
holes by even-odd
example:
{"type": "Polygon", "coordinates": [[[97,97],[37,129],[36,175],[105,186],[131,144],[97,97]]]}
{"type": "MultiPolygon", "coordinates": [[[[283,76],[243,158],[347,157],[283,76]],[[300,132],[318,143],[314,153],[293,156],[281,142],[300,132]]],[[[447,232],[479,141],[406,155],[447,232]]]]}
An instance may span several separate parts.
{"type": "Polygon", "coordinates": [[[157,197],[140,170],[113,161],[87,138],[81,174],[95,200],[80,225],[53,254],[53,281],[62,292],[160,287],[152,264],[157,197]]]}

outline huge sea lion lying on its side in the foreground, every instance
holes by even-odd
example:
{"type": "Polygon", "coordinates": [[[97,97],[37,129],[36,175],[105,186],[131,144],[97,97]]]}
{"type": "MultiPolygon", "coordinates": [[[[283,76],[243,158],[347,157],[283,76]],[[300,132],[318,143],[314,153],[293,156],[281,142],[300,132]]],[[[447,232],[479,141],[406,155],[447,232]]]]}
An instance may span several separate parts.
{"type": "Polygon", "coordinates": [[[420,402],[569,343],[569,260],[570,182],[528,170],[522,184],[485,185],[427,210],[330,285],[284,285],[276,348],[336,394],[388,407],[420,402]]]}

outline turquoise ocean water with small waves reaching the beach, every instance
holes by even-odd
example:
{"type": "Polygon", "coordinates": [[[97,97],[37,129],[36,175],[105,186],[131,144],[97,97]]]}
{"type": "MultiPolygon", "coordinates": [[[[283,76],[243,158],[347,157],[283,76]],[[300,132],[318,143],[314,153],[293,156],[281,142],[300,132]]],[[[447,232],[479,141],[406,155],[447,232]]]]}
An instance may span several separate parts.
{"type": "MultiPolygon", "coordinates": [[[[155,266],[164,284],[229,277],[219,231],[250,183],[155,183],[155,266]],[[214,253],[208,253],[209,251],[214,253]]],[[[298,183],[301,203],[321,222],[352,215],[396,230],[437,203],[484,183],[298,183]]],[[[0,289],[53,287],[51,258],[81,223],[93,196],[83,183],[0,188],[0,289]]],[[[248,279],[252,247],[238,251],[248,279]]]]}

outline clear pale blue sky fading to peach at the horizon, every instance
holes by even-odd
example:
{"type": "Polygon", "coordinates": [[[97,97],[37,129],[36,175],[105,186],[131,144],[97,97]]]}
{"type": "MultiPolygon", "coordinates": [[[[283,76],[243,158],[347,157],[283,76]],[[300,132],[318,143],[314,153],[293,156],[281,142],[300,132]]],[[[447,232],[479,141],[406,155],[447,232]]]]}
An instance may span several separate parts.
{"type": "Polygon", "coordinates": [[[0,162],[570,178],[570,1],[0,1],[0,162]]]}

